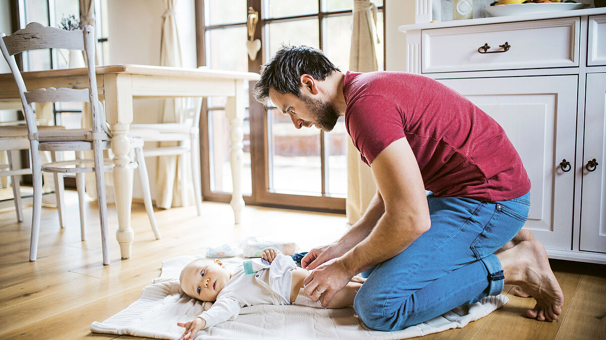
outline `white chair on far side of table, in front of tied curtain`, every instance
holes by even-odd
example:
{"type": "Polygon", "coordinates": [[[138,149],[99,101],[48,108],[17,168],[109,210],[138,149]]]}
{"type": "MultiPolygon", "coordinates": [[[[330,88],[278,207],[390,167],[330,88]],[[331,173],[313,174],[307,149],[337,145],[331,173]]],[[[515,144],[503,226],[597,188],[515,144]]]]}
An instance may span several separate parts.
{"type": "MultiPolygon", "coordinates": [[[[183,111],[182,123],[131,124],[130,136],[140,137],[144,142],[177,142],[176,146],[156,146],[143,148],[144,157],[176,155],[179,170],[185,171],[185,154],[190,154],[191,179],[193,180],[194,200],[198,216],[202,215],[202,188],[200,180],[200,140],[199,122],[202,108],[201,98],[188,98],[188,104],[183,111]]],[[[185,174],[181,174],[181,188],[187,188],[184,183],[185,174]]]]}

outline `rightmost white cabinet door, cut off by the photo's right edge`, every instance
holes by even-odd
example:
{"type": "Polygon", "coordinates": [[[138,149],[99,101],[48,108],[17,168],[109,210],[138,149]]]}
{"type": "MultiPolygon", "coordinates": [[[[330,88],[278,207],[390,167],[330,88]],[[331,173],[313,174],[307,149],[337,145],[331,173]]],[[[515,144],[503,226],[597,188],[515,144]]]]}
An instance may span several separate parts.
{"type": "Polygon", "coordinates": [[[582,166],[581,250],[606,253],[606,73],[587,74],[582,166]],[[595,159],[597,166],[588,164],[595,159]],[[589,169],[594,169],[589,171],[589,169]]]}

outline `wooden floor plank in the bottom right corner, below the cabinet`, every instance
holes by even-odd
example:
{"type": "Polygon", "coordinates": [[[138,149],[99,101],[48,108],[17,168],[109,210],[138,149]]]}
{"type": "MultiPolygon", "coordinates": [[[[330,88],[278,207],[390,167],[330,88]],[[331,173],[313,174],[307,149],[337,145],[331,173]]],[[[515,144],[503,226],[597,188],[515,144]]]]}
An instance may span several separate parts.
{"type": "Polygon", "coordinates": [[[606,339],[606,278],[583,275],[556,339],[606,339]]]}

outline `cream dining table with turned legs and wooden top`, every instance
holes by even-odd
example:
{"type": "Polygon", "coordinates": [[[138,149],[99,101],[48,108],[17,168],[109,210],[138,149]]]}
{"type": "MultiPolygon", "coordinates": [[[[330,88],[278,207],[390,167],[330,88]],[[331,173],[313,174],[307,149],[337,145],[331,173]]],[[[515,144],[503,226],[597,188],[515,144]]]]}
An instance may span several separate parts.
{"type": "MultiPolygon", "coordinates": [[[[101,65],[95,67],[99,100],[104,102],[105,119],[112,132],[113,188],[118,214],[118,240],[122,260],[131,257],[135,238],[130,226],[133,168],[130,159],[128,126],[133,122],[133,99],[179,97],[227,97],[225,116],[230,125],[230,165],[233,192],[230,205],[236,224],[241,221],[241,172],[243,155],[242,123],[248,92],[245,82],[259,79],[259,74],[242,71],[181,68],[152,65],[101,65]]],[[[87,68],[22,72],[27,88],[88,86],[87,68]]],[[[0,74],[0,103],[19,102],[19,91],[12,74],[0,74]]]]}

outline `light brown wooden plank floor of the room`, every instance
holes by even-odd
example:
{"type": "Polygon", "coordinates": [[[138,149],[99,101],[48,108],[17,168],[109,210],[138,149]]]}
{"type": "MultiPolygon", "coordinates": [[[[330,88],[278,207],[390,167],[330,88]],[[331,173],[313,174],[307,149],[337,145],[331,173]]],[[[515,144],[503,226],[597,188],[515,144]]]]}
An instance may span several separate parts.
{"type": "MultiPolygon", "coordinates": [[[[112,263],[102,266],[98,213],[88,202],[88,240],[80,240],[78,200],[67,192],[68,226],[59,229],[56,209],[43,208],[38,261],[29,262],[31,209],[16,223],[15,212],[0,211],[0,339],[113,339],[90,333],[93,321],[103,321],[139,298],[141,290],[160,275],[161,261],[204,251],[208,245],[238,244],[250,236],[295,240],[301,250],[327,243],[345,230],[345,217],[335,214],[246,207],[244,222],[234,226],[230,206],[203,203],[196,208],[156,211],[162,240],[155,240],[141,204],[133,204],[133,257],[120,260],[115,240],[115,209],[110,212],[112,263]]],[[[605,266],[553,261],[564,290],[559,322],[524,318],[531,298],[507,294],[510,302],[463,329],[427,339],[606,339],[605,266]]],[[[511,287],[506,287],[507,293],[511,287]]],[[[135,339],[130,336],[119,338],[135,339]]]]}

